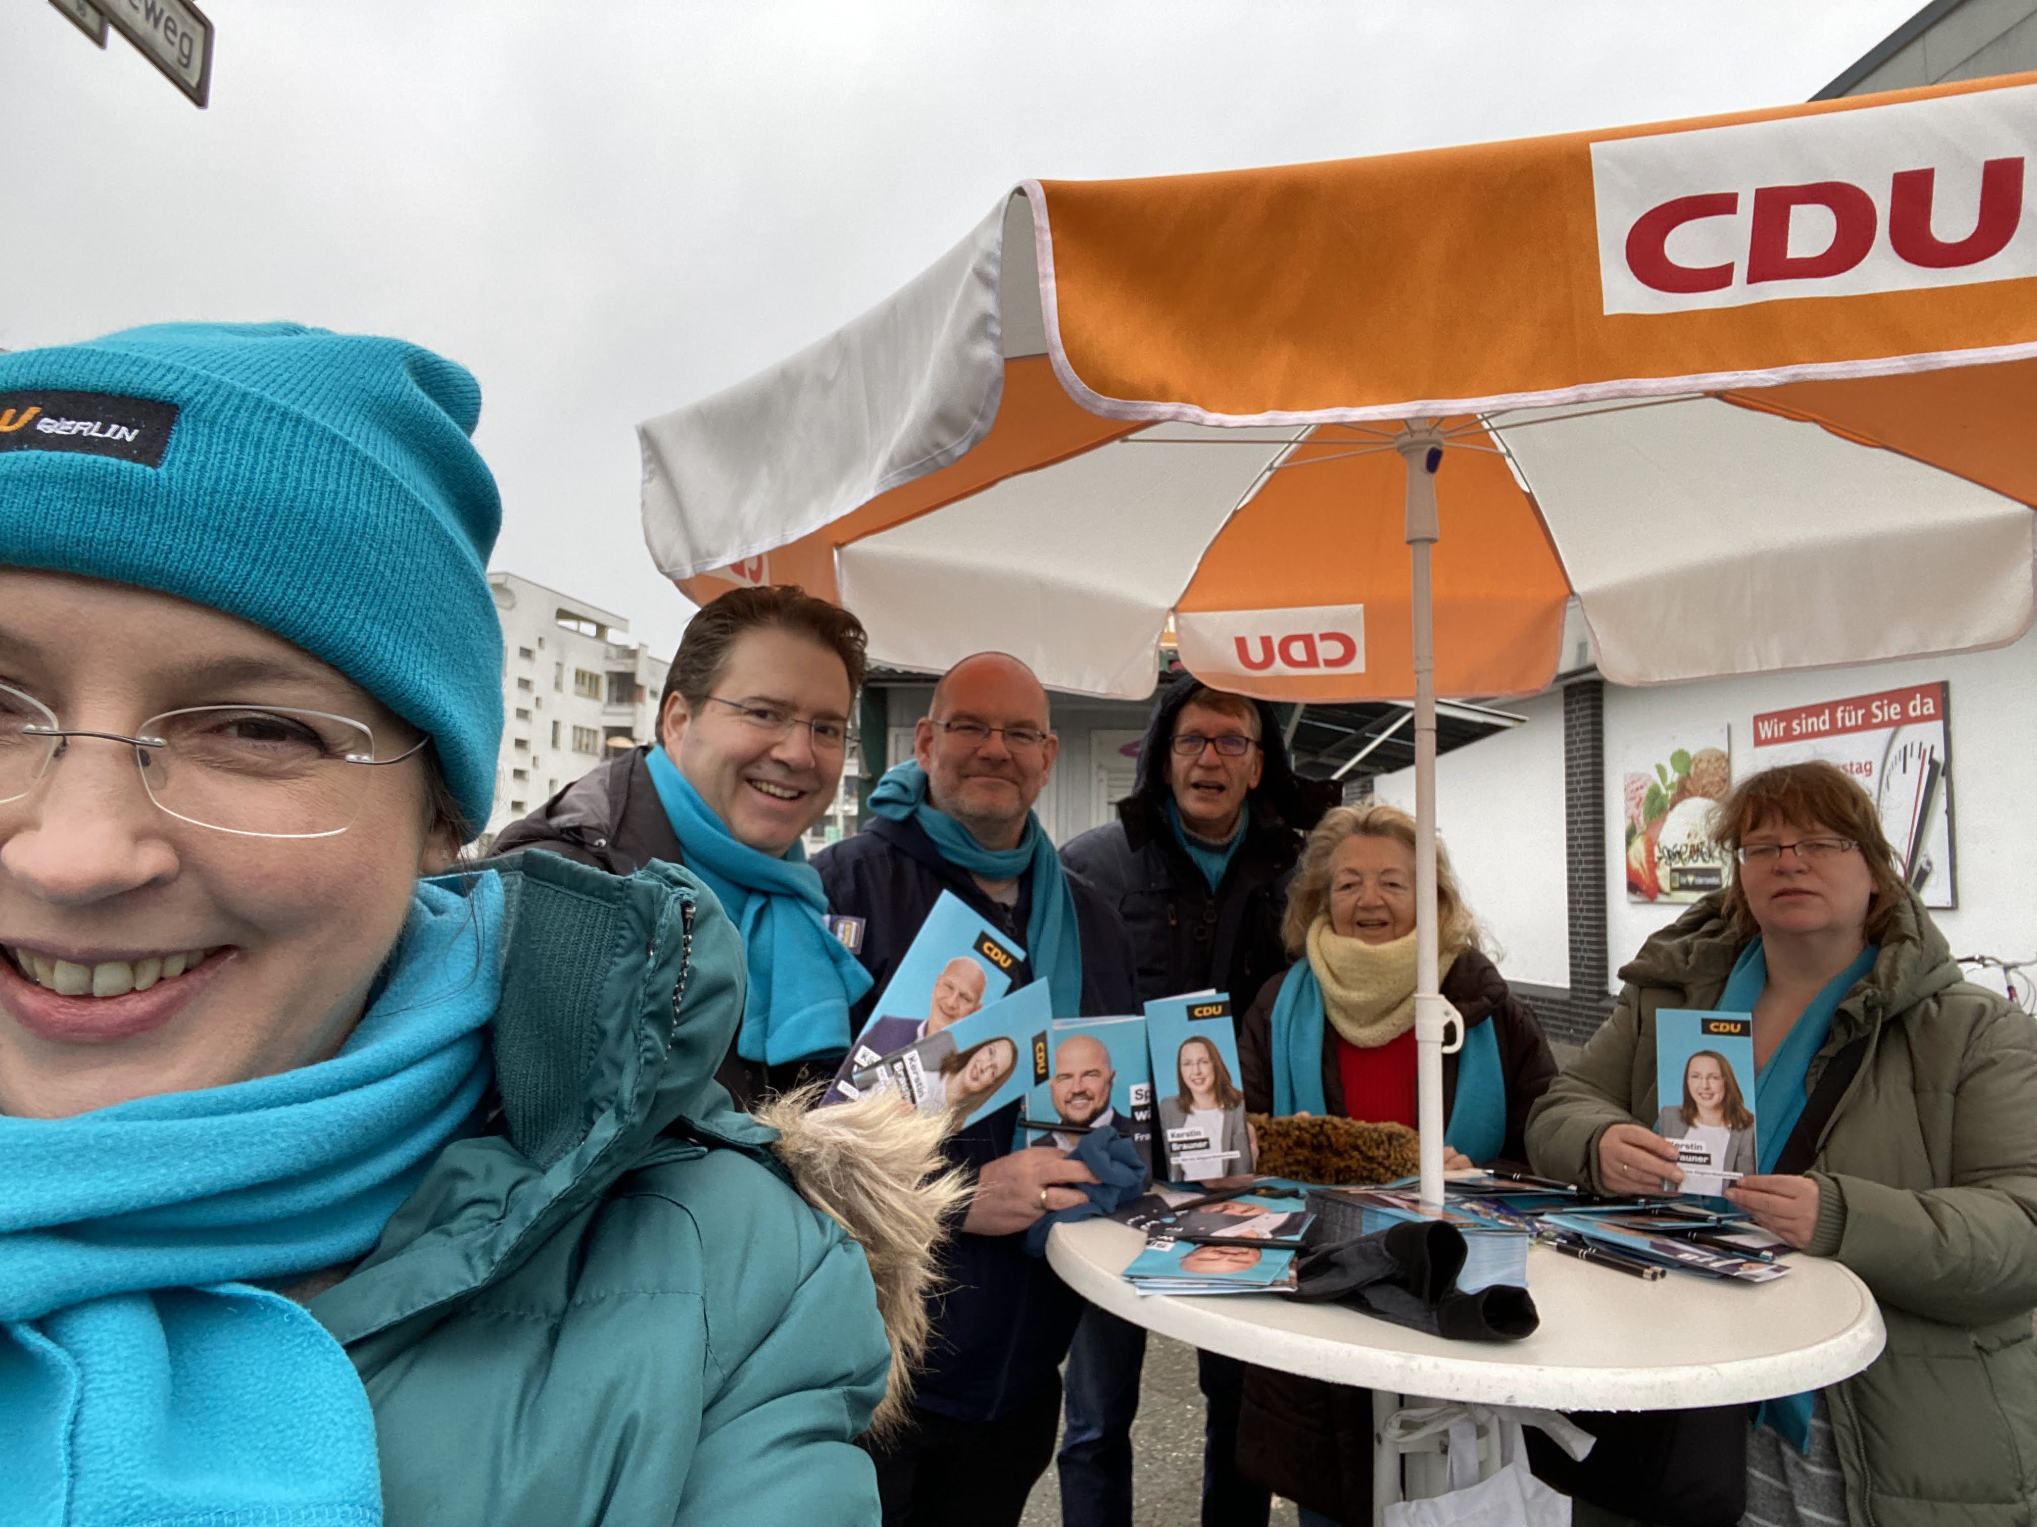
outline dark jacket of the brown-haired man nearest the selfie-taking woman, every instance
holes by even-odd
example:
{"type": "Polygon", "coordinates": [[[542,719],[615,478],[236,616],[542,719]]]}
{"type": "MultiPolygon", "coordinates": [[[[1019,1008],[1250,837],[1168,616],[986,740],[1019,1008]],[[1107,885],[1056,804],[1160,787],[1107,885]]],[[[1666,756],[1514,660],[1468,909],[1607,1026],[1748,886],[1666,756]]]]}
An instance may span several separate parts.
{"type": "MultiPolygon", "coordinates": [[[[544,849],[564,859],[605,869],[611,875],[634,875],[652,859],[684,865],[678,835],[658,800],[650,780],[650,747],[634,747],[599,764],[568,784],[530,816],[509,823],[491,853],[544,849]]],[[[792,1091],[809,1081],[835,1075],[841,1057],[815,1057],[788,1065],[746,1061],[729,1040],[729,1053],[715,1071],[715,1081],[729,1089],[741,1110],[752,1110],[772,1093],[792,1091]]]]}

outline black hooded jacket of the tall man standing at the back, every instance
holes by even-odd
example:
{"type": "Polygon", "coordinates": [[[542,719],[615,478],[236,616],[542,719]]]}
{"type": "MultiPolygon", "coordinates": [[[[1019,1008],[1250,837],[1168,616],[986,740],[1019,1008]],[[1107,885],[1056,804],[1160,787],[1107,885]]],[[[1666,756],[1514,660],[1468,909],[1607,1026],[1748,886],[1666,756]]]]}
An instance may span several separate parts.
{"type": "Polygon", "coordinates": [[[1279,939],[1287,880],[1302,835],[1336,804],[1340,790],[1293,772],[1273,706],[1257,700],[1263,770],[1251,792],[1251,823],[1212,892],[1167,821],[1173,723],[1202,688],[1183,674],[1161,690],[1139,743],[1139,778],[1118,802],[1118,821],[1073,839],[1061,849],[1061,863],[1092,882],[1124,918],[1143,1000],[1216,987],[1230,996],[1232,1012],[1245,1012],[1259,987],[1287,969],[1279,939]]]}

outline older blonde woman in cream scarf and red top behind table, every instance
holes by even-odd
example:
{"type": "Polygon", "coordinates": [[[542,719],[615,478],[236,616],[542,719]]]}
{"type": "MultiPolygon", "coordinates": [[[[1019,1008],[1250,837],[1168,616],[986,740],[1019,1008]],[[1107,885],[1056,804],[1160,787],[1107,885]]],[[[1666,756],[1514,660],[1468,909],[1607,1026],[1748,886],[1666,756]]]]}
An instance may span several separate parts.
{"type": "MultiPolygon", "coordinates": [[[[1483,953],[1479,924],[1436,845],[1438,981],[1465,1020],[1444,1057],[1446,1165],[1524,1161],[1528,1110],[1556,1061],[1534,1012],[1483,953]]],[[[1338,806],[1308,835],[1281,935],[1293,965],[1238,1026],[1255,1114],[1334,1114],[1416,1124],[1414,818],[1338,806]]],[[[1367,1521],[1371,1393],[1251,1370],[1238,1466],[1302,1505],[1308,1521],[1367,1521]]]]}

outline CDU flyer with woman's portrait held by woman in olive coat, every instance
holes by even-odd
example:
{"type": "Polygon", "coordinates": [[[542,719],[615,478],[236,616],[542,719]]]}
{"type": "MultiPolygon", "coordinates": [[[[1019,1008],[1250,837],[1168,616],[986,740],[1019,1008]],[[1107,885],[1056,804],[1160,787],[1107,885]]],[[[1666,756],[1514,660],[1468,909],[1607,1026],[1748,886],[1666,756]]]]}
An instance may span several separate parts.
{"type": "Polygon", "coordinates": [[[1656,1134],[1676,1142],[1685,1193],[1717,1197],[1758,1171],[1754,1014],[1658,1010],[1656,1101],[1656,1134]]]}

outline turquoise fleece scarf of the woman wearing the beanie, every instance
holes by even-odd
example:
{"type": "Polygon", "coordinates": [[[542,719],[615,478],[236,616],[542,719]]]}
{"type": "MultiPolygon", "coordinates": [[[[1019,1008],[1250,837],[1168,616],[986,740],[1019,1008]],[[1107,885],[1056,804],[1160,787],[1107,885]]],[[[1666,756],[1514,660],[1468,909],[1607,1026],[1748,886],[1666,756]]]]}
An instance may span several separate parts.
{"type": "Polygon", "coordinates": [[[489,1081],[503,888],[424,884],[320,1065],[61,1120],[0,1118],[0,1517],[373,1527],[375,1415],[259,1283],[359,1260],[489,1081]]]}

